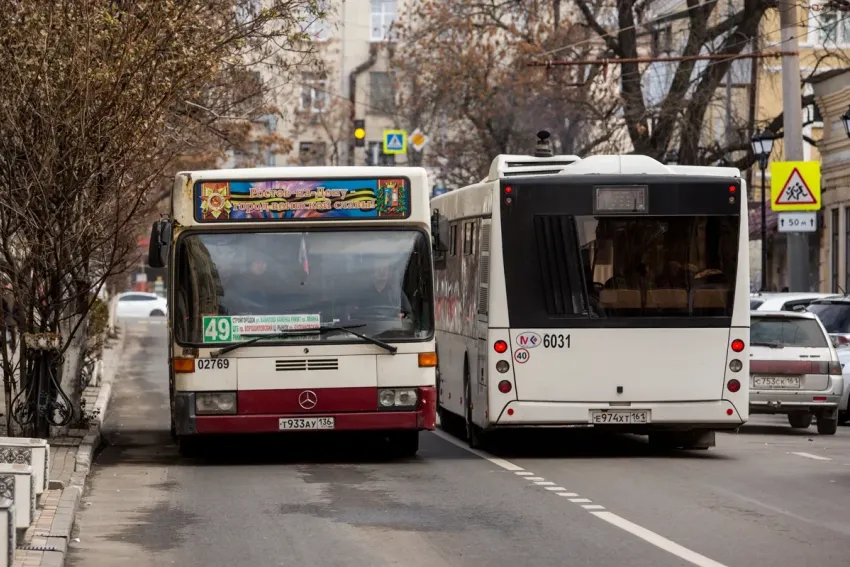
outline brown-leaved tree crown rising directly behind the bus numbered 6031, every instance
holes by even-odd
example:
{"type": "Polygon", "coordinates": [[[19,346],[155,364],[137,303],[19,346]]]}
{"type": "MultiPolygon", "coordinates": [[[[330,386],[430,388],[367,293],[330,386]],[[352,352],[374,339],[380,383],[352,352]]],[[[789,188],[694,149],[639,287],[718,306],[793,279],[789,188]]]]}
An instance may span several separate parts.
{"type": "Polygon", "coordinates": [[[532,151],[540,129],[553,134],[560,151],[575,153],[602,149],[616,135],[607,124],[617,101],[602,65],[549,72],[526,66],[568,38],[577,42],[570,56],[590,53],[592,45],[582,42],[590,34],[561,21],[562,13],[549,0],[419,0],[402,16],[402,47],[393,58],[404,77],[398,107],[406,116],[399,121],[429,130],[446,125],[429,155],[450,183],[481,179],[496,154],[532,151]]]}

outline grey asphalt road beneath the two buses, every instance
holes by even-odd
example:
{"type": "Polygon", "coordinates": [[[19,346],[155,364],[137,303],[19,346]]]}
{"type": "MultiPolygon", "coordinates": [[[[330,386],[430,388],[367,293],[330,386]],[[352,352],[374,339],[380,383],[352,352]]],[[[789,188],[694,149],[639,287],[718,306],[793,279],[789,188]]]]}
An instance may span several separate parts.
{"type": "Polygon", "coordinates": [[[524,433],[498,455],[423,433],[410,460],[361,442],[222,443],[178,458],[166,332],[131,323],[69,565],[704,567],[850,563],[850,428],[754,418],[710,451],[524,433]]]}

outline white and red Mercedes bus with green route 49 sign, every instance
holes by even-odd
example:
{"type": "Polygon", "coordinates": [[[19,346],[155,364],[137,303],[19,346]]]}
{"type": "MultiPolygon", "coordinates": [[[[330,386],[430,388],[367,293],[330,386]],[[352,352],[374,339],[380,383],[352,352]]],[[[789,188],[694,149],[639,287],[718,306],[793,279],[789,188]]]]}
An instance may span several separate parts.
{"type": "Polygon", "coordinates": [[[422,168],[184,172],[150,263],[169,265],[171,429],[372,431],[413,454],[436,422],[422,168]]]}

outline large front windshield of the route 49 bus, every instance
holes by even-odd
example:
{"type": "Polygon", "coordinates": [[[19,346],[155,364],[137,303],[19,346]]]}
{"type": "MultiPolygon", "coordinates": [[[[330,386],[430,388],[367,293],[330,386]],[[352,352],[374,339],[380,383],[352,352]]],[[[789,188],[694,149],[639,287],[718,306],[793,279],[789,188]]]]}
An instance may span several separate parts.
{"type": "MultiPolygon", "coordinates": [[[[186,233],[173,267],[175,338],[189,345],[237,342],[244,337],[228,333],[221,340],[215,328],[210,340],[204,326],[205,319],[230,317],[243,334],[289,330],[278,323],[297,320],[357,325],[359,333],[384,341],[428,340],[434,332],[430,250],[417,230],[186,233]]],[[[280,340],[357,339],[305,333],[270,342],[280,340]]]]}

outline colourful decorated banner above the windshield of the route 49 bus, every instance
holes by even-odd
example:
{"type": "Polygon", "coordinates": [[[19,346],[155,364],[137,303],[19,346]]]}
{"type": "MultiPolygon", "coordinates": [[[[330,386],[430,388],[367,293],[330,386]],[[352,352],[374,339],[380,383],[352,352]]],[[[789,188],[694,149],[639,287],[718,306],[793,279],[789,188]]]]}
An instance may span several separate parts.
{"type": "Polygon", "coordinates": [[[196,185],[196,198],[202,222],[410,216],[406,178],[204,181],[196,185]]]}

